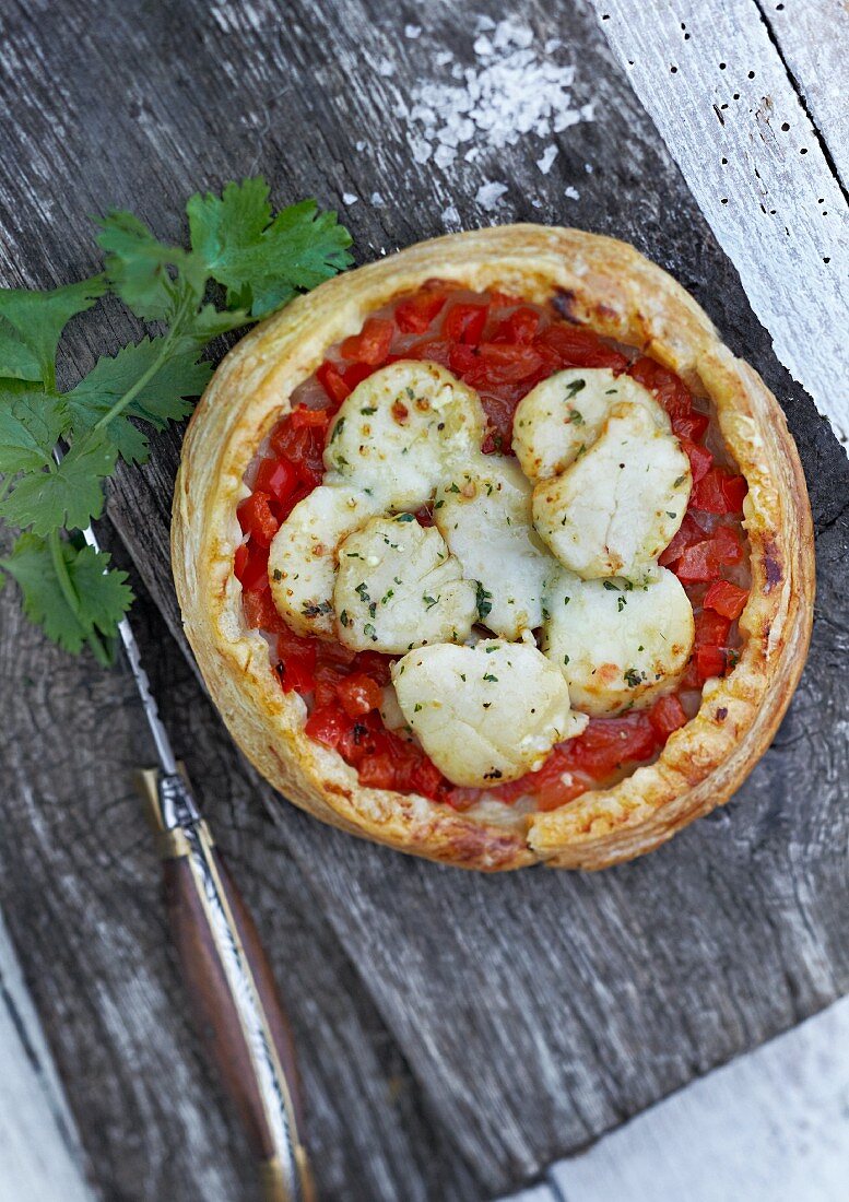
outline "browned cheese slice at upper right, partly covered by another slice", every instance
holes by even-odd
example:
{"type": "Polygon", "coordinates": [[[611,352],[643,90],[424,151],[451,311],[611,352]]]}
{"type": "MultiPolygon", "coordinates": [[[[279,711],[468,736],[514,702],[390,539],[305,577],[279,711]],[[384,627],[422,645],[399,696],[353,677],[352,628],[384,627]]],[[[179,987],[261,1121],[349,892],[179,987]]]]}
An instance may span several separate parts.
{"type": "Polygon", "coordinates": [[[595,442],[613,405],[641,405],[670,430],[666,410],[629,375],[610,368],[566,368],[532,388],[516,409],[513,451],[528,480],[558,476],[595,442]]]}

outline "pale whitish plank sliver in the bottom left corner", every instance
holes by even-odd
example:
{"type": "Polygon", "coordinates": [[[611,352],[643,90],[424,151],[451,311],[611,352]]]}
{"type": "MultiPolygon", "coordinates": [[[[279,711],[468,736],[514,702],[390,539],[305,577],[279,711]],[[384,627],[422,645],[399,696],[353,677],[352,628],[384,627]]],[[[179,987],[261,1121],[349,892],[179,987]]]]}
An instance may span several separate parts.
{"type": "Polygon", "coordinates": [[[0,916],[0,1198],[94,1202],[41,1022],[0,916]]]}

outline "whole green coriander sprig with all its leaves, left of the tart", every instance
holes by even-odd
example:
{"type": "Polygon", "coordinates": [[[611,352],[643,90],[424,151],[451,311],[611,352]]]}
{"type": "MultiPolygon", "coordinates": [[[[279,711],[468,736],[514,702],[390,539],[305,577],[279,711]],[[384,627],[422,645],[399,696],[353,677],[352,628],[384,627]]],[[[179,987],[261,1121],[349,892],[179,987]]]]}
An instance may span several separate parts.
{"type": "Polygon", "coordinates": [[[118,459],[147,460],[137,423],[161,430],[185,417],[212,375],[201,357],[210,339],[268,316],[351,262],[336,213],[303,201],[273,215],[261,178],[230,183],[220,196],[198,192],[186,214],[189,249],[113,210],[99,221],[103,273],[49,291],[0,288],[0,518],[24,531],[0,570],[49,638],[73,653],[88,645],[102,664],[132,593],[126,573],[81,531],[101,516],[118,459]],[[59,392],[65,326],[107,291],[155,328],[59,392]],[[60,458],[58,445],[66,448],[60,458]]]}

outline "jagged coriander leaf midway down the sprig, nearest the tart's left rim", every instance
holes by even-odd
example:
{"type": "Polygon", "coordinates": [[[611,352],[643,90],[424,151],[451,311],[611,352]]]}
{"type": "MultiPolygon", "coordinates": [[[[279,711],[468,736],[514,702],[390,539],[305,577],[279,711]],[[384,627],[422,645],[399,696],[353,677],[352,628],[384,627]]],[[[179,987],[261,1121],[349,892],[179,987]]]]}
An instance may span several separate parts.
{"type": "Polygon", "coordinates": [[[176,351],[170,351],[167,338],[143,338],[125,346],[114,357],[97,359],[76,388],[66,393],[69,413],[77,434],[87,433],[106,416],[113,405],[153,370],[147,383],[108,427],[112,442],[127,463],[144,463],[147,438],[136,429],[131,417],[149,422],[158,430],[171,421],[179,421],[191,412],[188,398],[200,397],[212,376],[212,364],[197,359],[197,344],[186,339],[176,351]]]}

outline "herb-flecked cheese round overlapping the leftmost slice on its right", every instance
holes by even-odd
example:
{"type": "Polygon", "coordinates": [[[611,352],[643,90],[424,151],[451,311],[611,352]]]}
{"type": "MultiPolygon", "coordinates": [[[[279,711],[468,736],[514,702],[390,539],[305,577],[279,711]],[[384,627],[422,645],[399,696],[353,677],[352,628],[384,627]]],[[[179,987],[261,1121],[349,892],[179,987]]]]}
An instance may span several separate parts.
{"type": "Polygon", "coordinates": [[[423,529],[411,513],[372,518],[339,547],[339,641],[388,654],[462,642],[477,617],[475,584],[462,577],[438,530],[423,529]]]}

